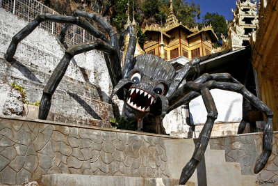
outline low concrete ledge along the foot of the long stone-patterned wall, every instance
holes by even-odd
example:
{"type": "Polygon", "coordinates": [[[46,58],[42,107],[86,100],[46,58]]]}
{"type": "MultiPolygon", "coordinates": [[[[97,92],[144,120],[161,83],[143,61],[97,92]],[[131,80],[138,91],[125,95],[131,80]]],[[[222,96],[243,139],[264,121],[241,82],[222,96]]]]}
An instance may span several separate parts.
{"type": "MultiPolygon", "coordinates": [[[[140,178],[130,176],[91,176],[79,174],[49,174],[42,176],[42,186],[174,186],[177,179],[168,178],[140,178]]],[[[193,184],[188,186],[194,186],[193,184]]]]}

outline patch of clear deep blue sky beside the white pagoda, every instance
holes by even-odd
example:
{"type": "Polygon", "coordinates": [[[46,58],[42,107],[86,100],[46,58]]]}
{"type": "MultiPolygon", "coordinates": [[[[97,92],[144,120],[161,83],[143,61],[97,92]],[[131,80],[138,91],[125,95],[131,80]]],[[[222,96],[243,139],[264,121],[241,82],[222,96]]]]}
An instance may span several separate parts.
{"type": "Polygon", "coordinates": [[[234,19],[231,8],[236,8],[236,0],[195,0],[195,3],[199,3],[201,6],[201,20],[198,22],[202,22],[202,17],[207,12],[223,15],[225,20],[234,19]]]}

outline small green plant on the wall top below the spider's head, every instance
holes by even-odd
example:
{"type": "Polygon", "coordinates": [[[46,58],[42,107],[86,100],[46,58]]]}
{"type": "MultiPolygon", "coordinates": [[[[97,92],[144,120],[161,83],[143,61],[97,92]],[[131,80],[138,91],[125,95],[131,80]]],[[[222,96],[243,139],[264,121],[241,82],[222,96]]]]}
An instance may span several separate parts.
{"type": "Polygon", "coordinates": [[[137,130],[137,123],[131,119],[126,118],[113,118],[109,120],[113,128],[122,130],[137,130]]]}

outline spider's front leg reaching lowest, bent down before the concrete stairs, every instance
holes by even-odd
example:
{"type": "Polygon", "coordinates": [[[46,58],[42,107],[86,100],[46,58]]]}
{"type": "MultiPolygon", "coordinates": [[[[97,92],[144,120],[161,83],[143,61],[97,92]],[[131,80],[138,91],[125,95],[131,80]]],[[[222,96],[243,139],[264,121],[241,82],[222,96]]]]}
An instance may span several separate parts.
{"type": "MultiPolygon", "coordinates": [[[[216,110],[213,97],[209,92],[208,88],[204,86],[204,84],[198,84],[195,82],[187,82],[181,88],[179,88],[173,95],[169,97],[169,103],[174,104],[174,102],[178,102],[180,95],[183,93],[189,93],[190,91],[195,91],[202,95],[206,111],[208,112],[206,123],[202,129],[202,132],[199,134],[199,140],[195,147],[193,156],[186,166],[183,167],[181,171],[181,177],[179,178],[179,185],[185,184],[188,179],[194,173],[197,165],[202,160],[202,156],[206,151],[206,146],[208,145],[209,138],[211,136],[211,130],[213,129],[213,123],[218,116],[218,112],[216,110]]],[[[170,105],[169,104],[169,105],[170,105]]]]}

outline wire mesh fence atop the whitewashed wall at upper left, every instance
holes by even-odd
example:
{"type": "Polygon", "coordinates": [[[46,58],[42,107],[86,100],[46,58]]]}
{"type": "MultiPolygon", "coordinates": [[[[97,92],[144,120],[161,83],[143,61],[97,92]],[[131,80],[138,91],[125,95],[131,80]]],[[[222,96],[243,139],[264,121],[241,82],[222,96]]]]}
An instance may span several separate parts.
{"type": "MultiPolygon", "coordinates": [[[[31,22],[37,15],[43,13],[59,15],[56,11],[44,6],[44,4],[36,0],[0,0],[0,8],[8,10],[10,13],[17,15],[27,22],[31,22]]],[[[54,35],[58,35],[62,27],[63,24],[56,22],[40,23],[40,28],[54,35]]],[[[90,33],[81,29],[79,26],[72,25],[65,35],[65,40],[69,45],[76,45],[80,42],[94,40],[94,38],[90,33]]]]}

